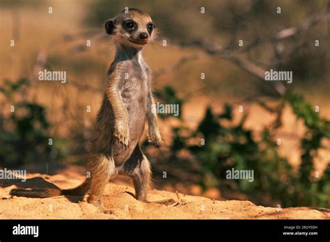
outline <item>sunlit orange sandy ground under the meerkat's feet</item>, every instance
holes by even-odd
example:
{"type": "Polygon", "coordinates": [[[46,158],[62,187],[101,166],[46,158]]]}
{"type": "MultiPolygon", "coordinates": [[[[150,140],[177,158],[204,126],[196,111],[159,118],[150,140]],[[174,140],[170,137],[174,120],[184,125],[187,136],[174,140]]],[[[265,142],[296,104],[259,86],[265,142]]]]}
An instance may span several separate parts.
{"type": "MultiPolygon", "coordinates": [[[[77,196],[49,198],[10,197],[13,188],[71,188],[84,179],[68,168],[58,175],[30,174],[26,182],[1,180],[0,219],[330,219],[330,209],[257,206],[249,201],[218,201],[206,197],[150,190],[150,203],[134,198],[134,188],[109,182],[105,214],[77,196]],[[168,200],[164,204],[159,201],[168,200]]],[[[123,184],[123,183],[122,183],[123,184]]],[[[86,200],[86,197],[85,197],[86,200]]]]}

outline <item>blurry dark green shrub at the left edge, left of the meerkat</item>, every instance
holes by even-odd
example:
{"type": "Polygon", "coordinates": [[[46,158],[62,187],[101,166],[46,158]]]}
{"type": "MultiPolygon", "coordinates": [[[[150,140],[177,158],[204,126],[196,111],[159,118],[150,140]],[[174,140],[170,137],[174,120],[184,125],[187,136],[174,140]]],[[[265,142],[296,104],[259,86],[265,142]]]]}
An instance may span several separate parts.
{"type": "MultiPolygon", "coordinates": [[[[3,81],[0,95],[2,106],[11,108],[10,115],[0,113],[0,163],[1,166],[20,166],[24,163],[49,159],[49,122],[45,108],[29,101],[18,101],[28,80],[3,81]],[[14,109],[13,109],[14,108],[14,109]]],[[[54,142],[54,141],[53,141],[54,142]]]]}

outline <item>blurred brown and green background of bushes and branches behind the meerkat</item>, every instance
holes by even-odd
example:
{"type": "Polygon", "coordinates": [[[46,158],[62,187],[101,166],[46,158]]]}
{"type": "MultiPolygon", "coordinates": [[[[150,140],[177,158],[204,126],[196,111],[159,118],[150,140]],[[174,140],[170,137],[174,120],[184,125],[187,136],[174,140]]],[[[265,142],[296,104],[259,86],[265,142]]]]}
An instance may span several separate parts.
{"type": "Polygon", "coordinates": [[[160,152],[141,140],[153,188],[330,207],[328,0],[0,0],[1,168],[84,173],[115,50],[104,22],[125,7],[152,16],[155,96],[180,104],[178,117],[159,115],[160,152]],[[38,81],[44,69],[67,82],[38,81]],[[265,81],[270,69],[292,83],[265,81]],[[254,181],[226,179],[232,168],[254,181]]]}

